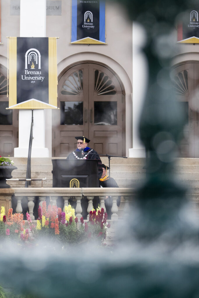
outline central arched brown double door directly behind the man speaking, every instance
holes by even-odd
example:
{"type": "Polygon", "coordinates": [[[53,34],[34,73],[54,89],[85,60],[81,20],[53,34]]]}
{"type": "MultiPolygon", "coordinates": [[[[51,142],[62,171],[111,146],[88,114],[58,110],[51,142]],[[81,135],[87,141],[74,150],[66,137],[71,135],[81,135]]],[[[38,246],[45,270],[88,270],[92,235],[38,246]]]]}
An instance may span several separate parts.
{"type": "Polygon", "coordinates": [[[107,66],[85,62],[70,67],[58,80],[58,107],[53,110],[53,156],[76,149],[75,136],[86,136],[99,154],[125,154],[125,95],[107,66]]]}

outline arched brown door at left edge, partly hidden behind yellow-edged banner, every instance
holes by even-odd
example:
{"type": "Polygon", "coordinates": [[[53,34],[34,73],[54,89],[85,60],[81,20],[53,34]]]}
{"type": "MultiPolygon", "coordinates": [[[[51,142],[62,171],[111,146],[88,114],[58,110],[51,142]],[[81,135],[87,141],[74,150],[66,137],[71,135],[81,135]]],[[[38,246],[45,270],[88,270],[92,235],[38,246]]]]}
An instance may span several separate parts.
{"type": "Polygon", "coordinates": [[[18,110],[8,108],[7,74],[0,67],[0,155],[14,156],[18,147],[18,110]]]}

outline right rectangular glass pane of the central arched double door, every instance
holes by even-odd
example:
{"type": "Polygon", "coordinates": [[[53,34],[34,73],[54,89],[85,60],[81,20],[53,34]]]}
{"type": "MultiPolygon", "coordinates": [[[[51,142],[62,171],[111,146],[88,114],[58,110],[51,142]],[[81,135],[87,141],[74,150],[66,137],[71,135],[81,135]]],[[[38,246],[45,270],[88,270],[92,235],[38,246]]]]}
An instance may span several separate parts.
{"type": "Polygon", "coordinates": [[[95,125],[117,125],[117,102],[95,101],[94,102],[95,125]]]}

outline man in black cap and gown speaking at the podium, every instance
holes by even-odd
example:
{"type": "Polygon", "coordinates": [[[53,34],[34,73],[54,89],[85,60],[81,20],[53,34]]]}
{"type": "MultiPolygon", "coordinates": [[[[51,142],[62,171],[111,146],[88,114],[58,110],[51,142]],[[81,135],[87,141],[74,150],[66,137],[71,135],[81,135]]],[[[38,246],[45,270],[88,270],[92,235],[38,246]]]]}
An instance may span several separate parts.
{"type": "MultiPolygon", "coordinates": [[[[84,136],[75,136],[75,139],[77,140],[77,149],[72,151],[68,155],[67,159],[97,159],[98,160],[98,178],[101,178],[101,175],[103,173],[101,159],[98,156],[98,153],[94,149],[87,147],[90,140],[84,136]]],[[[99,187],[100,187],[100,184],[99,184],[99,187]]],[[[99,200],[98,197],[94,197],[93,199],[94,206],[98,205],[98,200],[99,200]]],[[[75,197],[70,197],[68,201],[73,208],[76,207],[77,201],[75,197]]],[[[86,219],[88,215],[88,212],[87,212],[88,199],[85,196],[83,196],[81,199],[81,207],[82,207],[82,216],[84,219],[86,219]]]]}

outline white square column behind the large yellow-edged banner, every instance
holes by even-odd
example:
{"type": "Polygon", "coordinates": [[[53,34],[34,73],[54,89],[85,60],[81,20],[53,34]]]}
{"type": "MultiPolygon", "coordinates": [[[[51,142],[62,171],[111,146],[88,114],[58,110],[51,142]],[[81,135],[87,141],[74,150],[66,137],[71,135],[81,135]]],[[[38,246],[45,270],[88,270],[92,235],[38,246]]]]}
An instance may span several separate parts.
{"type": "MultiPolygon", "coordinates": [[[[46,0],[20,1],[20,37],[46,36],[46,0]]],[[[48,157],[52,151],[52,110],[33,111],[33,144],[31,157],[48,157]],[[48,135],[45,135],[47,131],[48,135]],[[47,147],[46,141],[48,142],[47,147]],[[50,154],[49,154],[50,152],[50,154]]],[[[15,157],[27,157],[32,110],[19,110],[19,144],[15,157]]]]}

